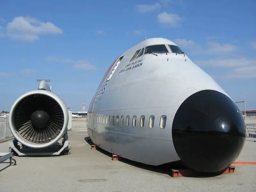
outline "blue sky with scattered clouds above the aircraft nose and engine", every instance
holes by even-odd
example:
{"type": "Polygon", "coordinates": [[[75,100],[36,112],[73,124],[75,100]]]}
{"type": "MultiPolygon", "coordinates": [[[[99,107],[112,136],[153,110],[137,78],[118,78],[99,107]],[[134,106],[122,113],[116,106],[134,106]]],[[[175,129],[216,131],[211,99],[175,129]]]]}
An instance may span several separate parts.
{"type": "Polygon", "coordinates": [[[174,41],[235,101],[256,110],[256,2],[202,2],[1,1],[0,110],[36,89],[36,79],[51,79],[73,111],[83,102],[87,110],[111,63],[145,34],[174,41]]]}

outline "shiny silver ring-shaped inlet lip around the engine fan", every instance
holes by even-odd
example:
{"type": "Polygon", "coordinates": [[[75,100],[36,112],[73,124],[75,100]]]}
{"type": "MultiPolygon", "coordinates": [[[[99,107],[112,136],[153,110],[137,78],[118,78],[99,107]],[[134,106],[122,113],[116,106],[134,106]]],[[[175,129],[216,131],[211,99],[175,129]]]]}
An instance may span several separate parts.
{"type": "Polygon", "coordinates": [[[64,101],[58,95],[56,95],[55,93],[50,92],[50,91],[37,89],[37,90],[33,90],[33,91],[29,91],[29,92],[24,93],[13,103],[13,105],[11,107],[11,110],[10,110],[10,114],[9,114],[9,125],[10,125],[10,129],[11,129],[11,132],[12,132],[13,136],[21,144],[23,144],[27,147],[30,147],[30,148],[46,148],[46,147],[49,147],[52,144],[56,143],[64,135],[64,133],[66,132],[66,130],[68,128],[68,120],[69,120],[68,116],[69,116],[68,115],[68,108],[67,108],[66,104],[64,103],[64,101]],[[15,127],[14,112],[15,112],[15,109],[18,106],[19,102],[22,99],[24,99],[25,97],[28,97],[30,95],[36,95],[36,94],[46,95],[46,96],[49,96],[49,97],[52,97],[53,99],[55,99],[57,101],[57,103],[60,105],[60,107],[63,111],[63,115],[64,115],[63,127],[62,127],[59,135],[56,138],[54,138],[51,142],[48,142],[48,143],[31,143],[28,140],[25,140],[19,134],[19,132],[14,128],[15,127]]]}

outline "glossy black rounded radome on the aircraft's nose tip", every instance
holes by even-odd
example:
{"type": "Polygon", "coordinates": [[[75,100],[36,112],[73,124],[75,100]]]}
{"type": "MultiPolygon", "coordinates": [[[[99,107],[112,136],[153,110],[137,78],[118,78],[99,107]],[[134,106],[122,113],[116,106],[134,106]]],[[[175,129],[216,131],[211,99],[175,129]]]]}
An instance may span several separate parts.
{"type": "Polygon", "coordinates": [[[178,156],[199,172],[218,172],[232,164],[244,146],[245,134],[244,119],[236,104],[213,90],[189,96],[172,124],[178,156]]]}

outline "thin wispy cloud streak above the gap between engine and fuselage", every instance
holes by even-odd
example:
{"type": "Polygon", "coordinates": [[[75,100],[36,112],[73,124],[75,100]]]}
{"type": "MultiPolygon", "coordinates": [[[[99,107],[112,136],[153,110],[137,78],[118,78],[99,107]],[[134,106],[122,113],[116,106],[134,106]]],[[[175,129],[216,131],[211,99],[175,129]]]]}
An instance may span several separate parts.
{"type": "Polygon", "coordinates": [[[96,67],[92,64],[90,64],[87,60],[71,60],[71,59],[61,59],[61,58],[55,58],[55,57],[46,57],[46,60],[48,62],[56,62],[56,63],[72,63],[74,64],[74,68],[76,69],[82,69],[82,70],[93,70],[96,69],[96,67]]]}

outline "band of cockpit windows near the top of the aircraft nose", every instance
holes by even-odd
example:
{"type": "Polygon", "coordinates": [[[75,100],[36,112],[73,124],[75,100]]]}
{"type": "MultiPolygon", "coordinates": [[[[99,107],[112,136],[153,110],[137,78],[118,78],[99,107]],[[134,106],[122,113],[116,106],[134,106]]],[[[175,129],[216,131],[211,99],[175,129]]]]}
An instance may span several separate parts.
{"type": "MultiPolygon", "coordinates": [[[[170,48],[172,53],[177,53],[177,54],[182,54],[184,53],[180,47],[176,46],[176,45],[169,45],[168,47],[170,48]]],[[[142,49],[137,50],[134,55],[132,56],[132,59],[129,61],[131,62],[132,60],[134,60],[135,58],[137,59],[138,57],[142,56],[143,53],[147,54],[147,53],[169,53],[168,49],[167,49],[167,45],[165,44],[158,44],[158,45],[149,45],[146,47],[145,49],[145,53],[144,53],[144,47],[142,49]]]]}

